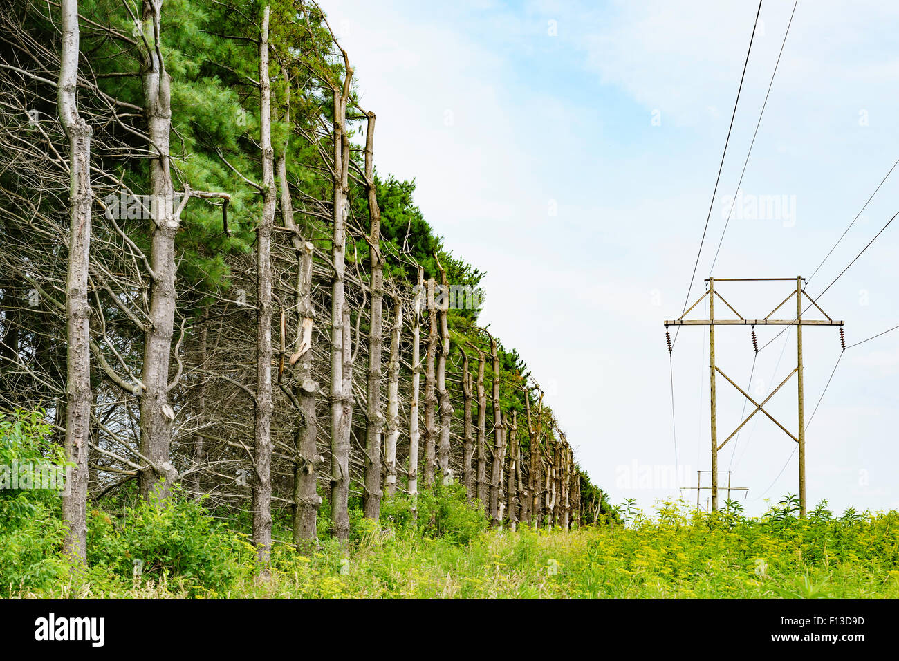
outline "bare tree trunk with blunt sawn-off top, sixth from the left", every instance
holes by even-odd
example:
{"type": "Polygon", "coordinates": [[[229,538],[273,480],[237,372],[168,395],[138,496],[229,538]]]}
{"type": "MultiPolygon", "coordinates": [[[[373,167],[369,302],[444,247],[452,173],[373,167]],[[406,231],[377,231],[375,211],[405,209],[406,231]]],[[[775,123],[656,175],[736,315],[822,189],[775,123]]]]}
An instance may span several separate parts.
{"type": "Polygon", "coordinates": [[[371,255],[371,308],[369,316],[369,380],[365,427],[365,486],[362,511],[378,520],[381,511],[381,433],[384,425],[381,404],[381,347],[383,339],[384,261],[381,257],[381,212],[375,190],[375,113],[369,112],[365,135],[365,184],[369,194],[369,253],[371,255]]]}

